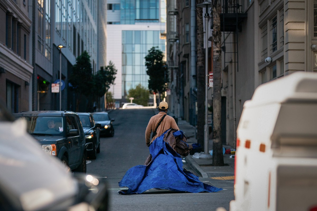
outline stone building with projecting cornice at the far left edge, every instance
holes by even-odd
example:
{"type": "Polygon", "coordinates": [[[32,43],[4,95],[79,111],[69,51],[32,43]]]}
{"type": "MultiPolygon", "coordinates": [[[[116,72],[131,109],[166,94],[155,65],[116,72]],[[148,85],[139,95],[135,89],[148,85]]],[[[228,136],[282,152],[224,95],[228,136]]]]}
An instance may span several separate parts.
{"type": "Polygon", "coordinates": [[[10,112],[29,109],[28,0],[0,0],[0,103],[10,112]]]}

